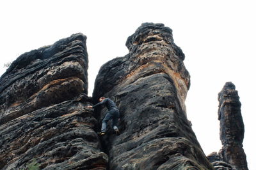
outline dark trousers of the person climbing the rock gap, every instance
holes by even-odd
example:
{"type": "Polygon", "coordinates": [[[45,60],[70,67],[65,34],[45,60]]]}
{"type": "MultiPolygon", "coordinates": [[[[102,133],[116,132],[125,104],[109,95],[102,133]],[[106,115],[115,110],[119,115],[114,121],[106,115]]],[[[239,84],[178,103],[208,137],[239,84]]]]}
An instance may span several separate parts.
{"type": "Polygon", "coordinates": [[[119,118],[119,111],[117,109],[111,109],[107,112],[106,116],[102,120],[102,125],[101,125],[101,132],[106,132],[107,131],[107,123],[110,119],[112,119],[112,127],[113,129],[118,129],[116,127],[116,124],[118,122],[119,118]]]}

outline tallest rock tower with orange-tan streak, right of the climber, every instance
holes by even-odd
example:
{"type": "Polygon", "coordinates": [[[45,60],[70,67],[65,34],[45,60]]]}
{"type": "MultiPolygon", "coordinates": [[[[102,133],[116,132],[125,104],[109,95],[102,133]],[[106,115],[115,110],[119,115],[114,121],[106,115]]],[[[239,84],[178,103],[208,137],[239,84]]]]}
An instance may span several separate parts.
{"type": "Polygon", "coordinates": [[[142,24],[126,45],[129,54],[101,67],[93,91],[94,103],[106,96],[120,108],[120,136],[109,130],[102,139],[109,169],[213,169],[186,117],[189,73],[172,30],[142,24]]]}

